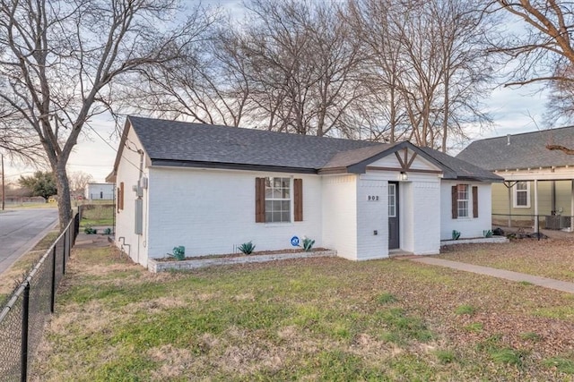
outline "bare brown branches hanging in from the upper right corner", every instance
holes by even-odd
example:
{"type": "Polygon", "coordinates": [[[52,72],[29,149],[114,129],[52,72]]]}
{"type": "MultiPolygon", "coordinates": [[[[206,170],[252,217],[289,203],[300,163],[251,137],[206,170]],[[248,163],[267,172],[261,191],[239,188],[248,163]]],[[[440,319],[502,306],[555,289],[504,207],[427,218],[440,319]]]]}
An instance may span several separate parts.
{"type": "Polygon", "coordinates": [[[574,116],[574,7],[566,1],[493,1],[491,13],[519,21],[505,30],[493,51],[514,67],[505,86],[538,84],[550,89],[548,122],[574,116]]]}

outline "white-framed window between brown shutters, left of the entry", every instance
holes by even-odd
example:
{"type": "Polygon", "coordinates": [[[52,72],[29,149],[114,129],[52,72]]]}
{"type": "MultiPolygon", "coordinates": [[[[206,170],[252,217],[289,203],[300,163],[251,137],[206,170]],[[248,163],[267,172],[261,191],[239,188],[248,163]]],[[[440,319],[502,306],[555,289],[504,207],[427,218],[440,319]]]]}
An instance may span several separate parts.
{"type": "Polygon", "coordinates": [[[265,178],[265,222],[291,222],[291,178],[265,178]]]}

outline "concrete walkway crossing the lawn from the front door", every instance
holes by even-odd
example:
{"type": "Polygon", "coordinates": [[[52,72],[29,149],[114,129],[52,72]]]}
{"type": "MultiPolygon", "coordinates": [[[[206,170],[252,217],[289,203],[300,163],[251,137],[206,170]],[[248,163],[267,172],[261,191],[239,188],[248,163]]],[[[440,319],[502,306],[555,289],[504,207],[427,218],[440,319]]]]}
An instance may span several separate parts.
{"type": "Polygon", "coordinates": [[[463,270],[465,272],[473,272],[479,275],[492,276],[504,278],[510,281],[526,281],[531,284],[544,286],[544,288],[555,289],[561,292],[574,293],[574,283],[566,281],[554,280],[552,278],[526,275],[524,273],[512,272],[504,269],[497,269],[493,267],[476,266],[474,264],[461,263],[458,261],[450,261],[445,259],[437,259],[430,257],[409,257],[408,259],[422,264],[431,266],[449,267],[452,269],[463,270]]]}

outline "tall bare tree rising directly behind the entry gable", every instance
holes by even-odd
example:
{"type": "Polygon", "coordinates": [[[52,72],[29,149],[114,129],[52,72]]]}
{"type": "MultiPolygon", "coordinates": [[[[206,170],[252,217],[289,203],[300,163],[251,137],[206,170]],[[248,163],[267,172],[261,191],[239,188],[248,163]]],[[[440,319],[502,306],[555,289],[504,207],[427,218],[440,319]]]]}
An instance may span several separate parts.
{"type": "MultiPolygon", "coordinates": [[[[371,114],[382,140],[445,151],[469,124],[489,123],[481,96],[490,26],[474,2],[352,0],[348,20],[368,57],[371,114]]],[[[372,134],[371,134],[372,136],[372,134]]]]}

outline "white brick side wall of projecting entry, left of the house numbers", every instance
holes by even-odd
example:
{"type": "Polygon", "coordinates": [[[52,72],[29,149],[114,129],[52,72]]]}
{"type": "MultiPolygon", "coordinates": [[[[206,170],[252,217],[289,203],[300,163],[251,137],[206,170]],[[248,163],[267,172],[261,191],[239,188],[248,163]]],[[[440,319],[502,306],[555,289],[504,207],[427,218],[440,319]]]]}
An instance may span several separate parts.
{"type": "Polygon", "coordinates": [[[357,259],[357,176],[322,177],[323,242],[337,256],[357,259]]]}

